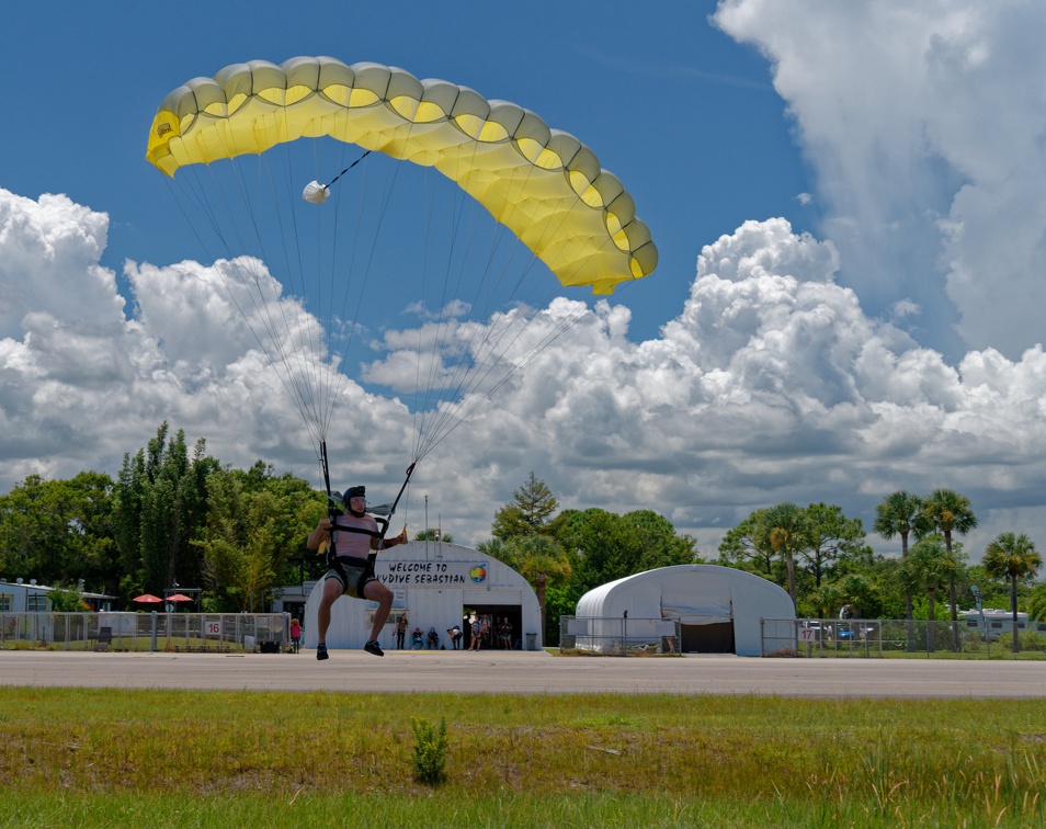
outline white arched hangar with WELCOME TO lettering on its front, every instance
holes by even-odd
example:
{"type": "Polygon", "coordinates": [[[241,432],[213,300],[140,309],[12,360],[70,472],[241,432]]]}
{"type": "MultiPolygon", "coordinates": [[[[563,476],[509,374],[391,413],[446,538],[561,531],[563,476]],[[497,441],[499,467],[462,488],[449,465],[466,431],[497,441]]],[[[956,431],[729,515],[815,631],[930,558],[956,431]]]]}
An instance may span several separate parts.
{"type": "MultiPolygon", "coordinates": [[[[451,649],[446,635],[454,624],[476,615],[508,618],[513,647],[542,647],[541,607],[533,588],[505,564],[470,547],[442,542],[411,542],[383,550],[375,561],[377,576],[396,595],[393,612],[378,637],[385,650],[396,647],[396,622],[407,614],[408,629],[428,633],[435,627],[441,645],[451,649]]],[[[303,645],[315,648],[316,616],[323,591],[316,582],[305,604],[303,645]]],[[[328,648],[362,648],[369,638],[377,603],[342,597],[331,607],[328,648]]],[[[464,626],[463,626],[463,629],[464,626]]],[[[463,646],[468,645],[465,631],[463,646]]],[[[410,648],[410,636],[407,647],[410,648]]]]}

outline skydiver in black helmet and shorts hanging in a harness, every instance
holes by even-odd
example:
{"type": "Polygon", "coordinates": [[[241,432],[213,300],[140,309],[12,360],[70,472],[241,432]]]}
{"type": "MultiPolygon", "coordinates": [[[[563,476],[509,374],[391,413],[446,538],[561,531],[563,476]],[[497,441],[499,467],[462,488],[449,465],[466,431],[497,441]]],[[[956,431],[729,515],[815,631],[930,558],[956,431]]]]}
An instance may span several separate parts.
{"type": "Polygon", "coordinates": [[[350,487],[343,499],[349,509],[348,514],[336,515],[333,524],[329,518],[320,519],[306,542],[309,549],[316,549],[326,542],[331,564],[331,569],[323,577],[323,594],[317,614],[317,659],[328,658],[327,628],[330,627],[330,609],[342,595],[369,599],[378,603],[374,624],[371,626],[371,639],[363,649],[374,656],[385,656],[377,637],[393,607],[393,591],[375,578],[368,556],[372,549],[406,544],[407,529],[403,527],[403,532],[395,538],[386,538],[383,543],[377,521],[367,514],[365,493],[364,487],[350,487]]]}

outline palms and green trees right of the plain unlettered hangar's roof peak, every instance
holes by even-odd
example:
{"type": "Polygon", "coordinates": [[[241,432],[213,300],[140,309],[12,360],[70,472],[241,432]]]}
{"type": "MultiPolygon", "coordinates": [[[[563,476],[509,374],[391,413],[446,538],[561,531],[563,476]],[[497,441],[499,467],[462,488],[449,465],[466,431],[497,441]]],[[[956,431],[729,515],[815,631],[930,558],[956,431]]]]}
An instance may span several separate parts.
{"type": "MultiPolygon", "coordinates": [[[[958,610],[973,606],[975,584],[985,606],[1008,604],[1014,622],[1021,602],[1031,618],[1046,618],[1046,586],[1030,588],[1042,567],[1032,540],[1001,533],[980,565],[969,566],[955,536],[976,526],[969,499],[952,489],[891,492],[876,506],[874,524],[887,541],[901,542],[900,558],[887,557],[867,545],[861,520],[848,519],[839,507],[784,502],[757,510],[730,530],[719,545],[719,564],[786,587],[799,616],[833,618],[846,607],[854,617],[951,621],[958,649],[958,610]]],[[[1013,647],[1019,649],[1016,625],[1013,647]]]]}

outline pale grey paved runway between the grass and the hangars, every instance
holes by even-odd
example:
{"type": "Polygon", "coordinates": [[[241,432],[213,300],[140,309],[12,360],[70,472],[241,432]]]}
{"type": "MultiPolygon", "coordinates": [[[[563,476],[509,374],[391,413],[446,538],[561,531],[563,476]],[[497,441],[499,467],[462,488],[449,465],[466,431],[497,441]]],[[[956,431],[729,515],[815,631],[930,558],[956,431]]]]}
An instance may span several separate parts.
{"type": "Polygon", "coordinates": [[[544,651],[291,654],[0,651],[0,685],[496,694],[775,694],[1044,699],[1046,662],[559,657],[544,651]]]}

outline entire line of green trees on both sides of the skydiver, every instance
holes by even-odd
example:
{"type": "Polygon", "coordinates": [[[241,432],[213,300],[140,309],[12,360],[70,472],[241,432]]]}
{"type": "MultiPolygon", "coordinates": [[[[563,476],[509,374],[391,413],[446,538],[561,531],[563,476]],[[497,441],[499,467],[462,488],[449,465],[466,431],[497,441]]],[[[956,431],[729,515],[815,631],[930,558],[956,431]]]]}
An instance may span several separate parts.
{"type": "MultiPolygon", "coordinates": [[[[0,576],[82,584],[125,603],[198,586],[208,612],[260,611],[275,588],[321,576],[323,561],[304,541],[325,510],[326,496],[307,481],[276,475],[262,461],[246,470],[223,465],[204,440],[190,450],[182,431],[171,434],[162,423],[124,456],[115,480],[95,472],[52,481],[33,475],[0,496],[0,576]]],[[[1023,604],[1032,618],[1046,618],[1046,586],[1030,583],[1042,566],[1034,543],[1002,533],[980,565],[968,566],[956,536],[976,525],[969,500],[953,490],[892,492],[876,507],[874,530],[900,540],[897,558],[876,554],[861,520],[838,506],[783,502],[728,531],[712,563],[781,584],[799,616],[831,618],[849,605],[854,617],[951,617],[957,638],[957,610],[970,605],[977,583],[986,606],[1009,603],[1015,614],[1023,604]]],[[[652,510],[560,512],[533,472],[494,513],[491,536],[479,550],[534,587],[546,641],[558,639],[559,616],[572,614],[589,590],[705,561],[694,538],[652,510]]]]}

